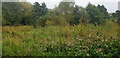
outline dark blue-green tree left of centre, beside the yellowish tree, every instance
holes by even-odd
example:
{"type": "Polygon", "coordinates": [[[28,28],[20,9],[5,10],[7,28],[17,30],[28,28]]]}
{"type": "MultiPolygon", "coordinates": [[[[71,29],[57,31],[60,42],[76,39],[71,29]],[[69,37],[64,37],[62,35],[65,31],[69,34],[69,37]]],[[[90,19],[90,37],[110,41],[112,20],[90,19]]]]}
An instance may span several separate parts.
{"type": "Polygon", "coordinates": [[[33,5],[33,19],[34,19],[34,27],[37,25],[43,26],[45,24],[45,20],[43,20],[42,16],[47,14],[48,9],[45,3],[41,5],[38,2],[35,2],[33,5]],[[41,22],[41,23],[37,23],[41,22]]]}

